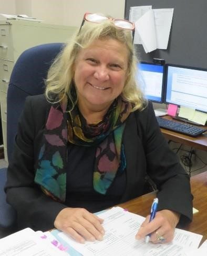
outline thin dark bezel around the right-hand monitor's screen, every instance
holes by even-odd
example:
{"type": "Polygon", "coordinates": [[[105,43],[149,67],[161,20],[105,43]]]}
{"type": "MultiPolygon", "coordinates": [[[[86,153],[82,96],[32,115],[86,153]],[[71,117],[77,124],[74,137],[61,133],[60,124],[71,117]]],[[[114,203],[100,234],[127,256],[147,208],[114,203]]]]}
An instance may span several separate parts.
{"type": "MultiPolygon", "coordinates": [[[[180,107],[181,105],[175,104],[175,103],[172,103],[172,102],[168,102],[167,99],[166,99],[166,97],[167,97],[167,86],[168,86],[168,67],[169,66],[171,66],[171,67],[180,67],[180,68],[188,68],[188,69],[191,69],[191,70],[206,71],[206,72],[207,72],[207,68],[193,67],[193,66],[187,66],[187,65],[181,65],[181,64],[170,64],[170,63],[165,64],[164,100],[163,100],[163,103],[164,104],[173,104],[173,105],[177,105],[178,107],[180,107]]],[[[207,113],[207,111],[198,110],[198,109],[195,109],[195,110],[203,112],[203,113],[207,113]]]]}

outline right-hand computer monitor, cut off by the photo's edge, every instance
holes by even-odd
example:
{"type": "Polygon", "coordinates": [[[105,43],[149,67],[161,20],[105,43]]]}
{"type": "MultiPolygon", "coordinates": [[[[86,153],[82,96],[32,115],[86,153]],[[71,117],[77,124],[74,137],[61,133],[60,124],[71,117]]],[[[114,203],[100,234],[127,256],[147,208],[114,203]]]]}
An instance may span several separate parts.
{"type": "Polygon", "coordinates": [[[165,103],[207,113],[206,69],[167,64],[165,90],[165,103]]]}

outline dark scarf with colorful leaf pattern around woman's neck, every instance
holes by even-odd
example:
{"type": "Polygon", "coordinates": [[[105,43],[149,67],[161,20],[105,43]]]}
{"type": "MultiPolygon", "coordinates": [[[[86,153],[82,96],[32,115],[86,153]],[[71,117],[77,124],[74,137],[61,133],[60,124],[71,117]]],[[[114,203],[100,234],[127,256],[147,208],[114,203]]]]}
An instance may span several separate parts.
{"type": "Polygon", "coordinates": [[[68,100],[50,107],[35,175],[35,183],[47,195],[62,202],[66,199],[67,143],[96,146],[94,189],[106,194],[116,173],[126,168],[122,135],[131,112],[131,104],[119,97],[104,120],[88,125],[77,105],[68,111],[69,103],[68,100]]]}

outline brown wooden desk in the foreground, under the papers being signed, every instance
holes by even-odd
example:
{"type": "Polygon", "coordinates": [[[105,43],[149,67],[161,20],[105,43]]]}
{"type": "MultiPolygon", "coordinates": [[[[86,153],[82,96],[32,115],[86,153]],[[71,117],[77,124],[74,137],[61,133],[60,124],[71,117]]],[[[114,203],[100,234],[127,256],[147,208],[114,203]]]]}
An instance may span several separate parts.
{"type": "MultiPolygon", "coordinates": [[[[207,171],[201,174],[192,176],[191,191],[194,196],[193,207],[199,212],[193,214],[193,221],[182,228],[194,233],[203,235],[201,243],[207,239],[207,171]]],[[[156,197],[155,192],[139,196],[128,202],[119,204],[122,208],[127,208],[128,211],[147,216],[149,214],[153,198],[156,197]]]]}

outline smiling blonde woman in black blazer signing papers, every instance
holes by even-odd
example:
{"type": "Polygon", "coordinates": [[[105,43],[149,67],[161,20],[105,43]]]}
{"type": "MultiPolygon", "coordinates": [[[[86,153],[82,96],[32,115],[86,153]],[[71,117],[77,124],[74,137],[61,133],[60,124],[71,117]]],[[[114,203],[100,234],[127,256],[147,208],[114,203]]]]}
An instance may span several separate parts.
{"type": "Polygon", "coordinates": [[[142,195],[146,175],[159,211],[137,239],[169,242],[178,222],[192,219],[189,176],[136,84],[133,32],[128,21],[85,14],[50,67],[45,94],[27,98],[6,185],[19,228],[102,240],[93,212],[142,195]]]}

